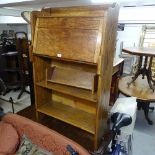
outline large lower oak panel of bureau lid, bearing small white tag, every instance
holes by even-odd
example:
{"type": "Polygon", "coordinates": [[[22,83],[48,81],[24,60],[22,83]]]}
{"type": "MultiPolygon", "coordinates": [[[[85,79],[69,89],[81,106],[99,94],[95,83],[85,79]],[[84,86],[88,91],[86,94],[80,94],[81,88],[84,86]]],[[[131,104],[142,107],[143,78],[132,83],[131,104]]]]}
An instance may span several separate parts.
{"type": "Polygon", "coordinates": [[[36,33],[34,53],[94,62],[97,30],[40,28],[36,33]]]}

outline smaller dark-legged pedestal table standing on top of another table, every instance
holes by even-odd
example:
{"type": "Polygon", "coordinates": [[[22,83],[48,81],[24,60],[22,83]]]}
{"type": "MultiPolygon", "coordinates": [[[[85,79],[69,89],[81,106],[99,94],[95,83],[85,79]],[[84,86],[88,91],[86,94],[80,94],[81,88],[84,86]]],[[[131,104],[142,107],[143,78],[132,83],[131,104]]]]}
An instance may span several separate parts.
{"type": "Polygon", "coordinates": [[[139,75],[142,75],[142,78],[144,79],[144,76],[146,75],[148,84],[150,88],[154,91],[155,86],[155,80],[152,78],[152,59],[155,56],[155,49],[153,48],[144,48],[144,47],[138,47],[138,48],[124,48],[123,52],[137,55],[139,56],[139,62],[138,62],[138,69],[135,75],[132,77],[132,80],[128,82],[128,85],[130,85],[132,82],[134,82],[139,75]]]}

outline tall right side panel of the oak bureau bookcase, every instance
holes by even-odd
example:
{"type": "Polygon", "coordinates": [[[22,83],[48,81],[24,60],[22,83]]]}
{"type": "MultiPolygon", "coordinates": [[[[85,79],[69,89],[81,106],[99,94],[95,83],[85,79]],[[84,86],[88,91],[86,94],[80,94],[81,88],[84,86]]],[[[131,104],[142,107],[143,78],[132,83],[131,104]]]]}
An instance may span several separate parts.
{"type": "Polygon", "coordinates": [[[104,19],[105,26],[102,32],[103,40],[100,57],[100,75],[98,79],[98,107],[96,115],[95,147],[99,146],[101,138],[109,130],[108,109],[110,88],[113,70],[113,57],[116,45],[116,32],[119,7],[109,8],[104,19]]]}

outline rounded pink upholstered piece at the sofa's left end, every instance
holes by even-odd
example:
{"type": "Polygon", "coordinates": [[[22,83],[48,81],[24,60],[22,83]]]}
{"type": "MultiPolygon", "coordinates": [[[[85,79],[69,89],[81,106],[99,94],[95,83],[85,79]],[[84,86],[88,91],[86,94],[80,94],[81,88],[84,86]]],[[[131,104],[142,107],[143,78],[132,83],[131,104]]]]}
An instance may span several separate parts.
{"type": "Polygon", "coordinates": [[[15,153],[18,144],[16,129],[11,124],[0,122],[0,155],[15,153]]]}

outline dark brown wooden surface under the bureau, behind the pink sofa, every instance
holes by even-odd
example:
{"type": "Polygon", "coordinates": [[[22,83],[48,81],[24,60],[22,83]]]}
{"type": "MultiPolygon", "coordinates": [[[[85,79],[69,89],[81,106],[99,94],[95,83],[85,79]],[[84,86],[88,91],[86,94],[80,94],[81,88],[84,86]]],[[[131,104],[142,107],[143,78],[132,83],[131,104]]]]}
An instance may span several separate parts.
{"type": "MultiPolygon", "coordinates": [[[[34,105],[18,112],[18,114],[37,122],[34,105]]],[[[79,128],[61,122],[59,120],[56,120],[52,117],[48,117],[46,115],[44,115],[44,117],[41,120],[39,120],[39,123],[53,130],[56,130],[60,134],[65,135],[66,137],[76,141],[77,143],[85,147],[87,150],[93,151],[93,136],[91,134],[79,128]]]]}

